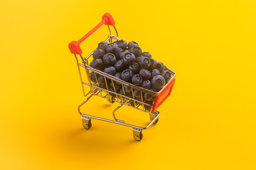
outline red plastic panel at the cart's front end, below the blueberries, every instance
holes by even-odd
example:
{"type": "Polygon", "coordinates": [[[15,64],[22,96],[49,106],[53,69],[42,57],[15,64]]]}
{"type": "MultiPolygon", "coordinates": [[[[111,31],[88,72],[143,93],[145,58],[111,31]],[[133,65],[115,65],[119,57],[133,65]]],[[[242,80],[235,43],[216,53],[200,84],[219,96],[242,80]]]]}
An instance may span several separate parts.
{"type": "Polygon", "coordinates": [[[154,112],[164,101],[171,95],[173,90],[173,86],[175,83],[175,79],[171,81],[171,83],[157,96],[155,97],[155,103],[152,108],[152,112],[154,112]]]}

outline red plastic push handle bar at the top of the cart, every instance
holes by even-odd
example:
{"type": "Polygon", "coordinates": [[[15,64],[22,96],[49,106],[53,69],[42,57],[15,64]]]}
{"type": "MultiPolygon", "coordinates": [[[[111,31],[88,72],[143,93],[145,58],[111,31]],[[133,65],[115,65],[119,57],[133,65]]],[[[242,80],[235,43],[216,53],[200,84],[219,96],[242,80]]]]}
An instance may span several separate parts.
{"type": "Polygon", "coordinates": [[[80,40],[70,42],[70,44],[68,44],[68,48],[70,49],[70,52],[72,54],[78,54],[78,55],[83,53],[82,49],[80,48],[80,43],[83,42],[90,35],[92,35],[92,33],[97,31],[97,29],[99,29],[99,27],[101,27],[103,24],[115,25],[115,21],[110,13],[105,13],[102,16],[102,21],[97,26],[95,26],[91,31],[89,31],[89,33],[85,34],[80,40]]]}

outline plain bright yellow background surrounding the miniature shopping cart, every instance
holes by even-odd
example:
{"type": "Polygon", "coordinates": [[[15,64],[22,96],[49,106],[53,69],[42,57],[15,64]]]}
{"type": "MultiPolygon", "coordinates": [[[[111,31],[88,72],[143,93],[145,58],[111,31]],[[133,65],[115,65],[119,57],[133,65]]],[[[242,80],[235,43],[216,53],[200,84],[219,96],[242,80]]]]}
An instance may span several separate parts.
{"type": "MultiPolygon", "coordinates": [[[[1,170],[256,169],[255,0],[8,0],[0,16],[1,170]],[[77,113],[85,98],[67,45],[106,12],[119,38],[177,73],[158,124],[140,142],[107,122],[85,130],[77,113]]],[[[107,35],[101,27],[84,54],[107,35]]],[[[83,112],[111,117],[117,105],[92,97],[83,112]]],[[[126,106],[118,118],[129,115],[149,120],[126,106]]]]}

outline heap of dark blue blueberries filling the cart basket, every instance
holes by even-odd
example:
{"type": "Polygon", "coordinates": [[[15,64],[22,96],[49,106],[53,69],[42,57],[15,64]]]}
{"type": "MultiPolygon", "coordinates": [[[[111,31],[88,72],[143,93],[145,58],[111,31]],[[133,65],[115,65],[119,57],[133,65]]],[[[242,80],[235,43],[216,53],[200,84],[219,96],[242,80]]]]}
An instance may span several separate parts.
{"type": "MultiPolygon", "coordinates": [[[[113,75],[128,83],[149,89],[153,92],[158,92],[171,79],[171,72],[164,66],[162,62],[154,60],[150,53],[142,52],[141,48],[136,42],[129,42],[120,40],[113,43],[100,42],[98,48],[92,53],[93,60],[90,66],[98,70],[104,71],[109,75],[113,75]]],[[[99,87],[107,89],[132,98],[132,89],[129,86],[124,86],[118,82],[112,82],[110,79],[106,81],[103,76],[90,73],[92,82],[99,82],[99,87]],[[97,79],[97,80],[96,80],[97,79]],[[115,87],[115,90],[114,90],[115,87]]],[[[134,90],[133,95],[135,99],[141,101],[140,91],[134,90]]],[[[112,94],[112,97],[116,97],[112,94]]],[[[152,104],[154,96],[147,93],[142,96],[146,103],[152,104]]],[[[144,101],[143,101],[144,102],[144,101]]],[[[130,102],[134,105],[134,102],[130,102]]]]}

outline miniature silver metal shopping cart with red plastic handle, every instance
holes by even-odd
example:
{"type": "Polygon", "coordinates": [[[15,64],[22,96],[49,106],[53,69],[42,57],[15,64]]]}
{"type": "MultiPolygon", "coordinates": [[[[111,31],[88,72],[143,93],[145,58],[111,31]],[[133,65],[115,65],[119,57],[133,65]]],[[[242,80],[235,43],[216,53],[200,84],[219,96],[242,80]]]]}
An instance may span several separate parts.
{"type": "Polygon", "coordinates": [[[170,81],[167,82],[167,84],[159,92],[153,92],[153,91],[147,90],[145,88],[135,86],[133,84],[125,82],[121,79],[118,79],[117,77],[112,76],[112,75],[108,75],[108,74],[104,73],[103,71],[92,68],[91,66],[89,66],[89,60],[92,60],[91,56],[92,56],[93,52],[90,53],[90,55],[88,55],[88,57],[83,57],[82,56],[82,50],[81,50],[81,47],[80,47],[80,43],[83,42],[86,38],[88,38],[97,29],[99,29],[99,27],[102,26],[103,24],[107,25],[108,29],[110,31],[110,35],[108,35],[108,38],[105,40],[106,42],[107,41],[112,42],[112,41],[120,40],[118,38],[117,29],[115,28],[114,19],[112,18],[112,16],[109,13],[105,13],[102,16],[102,21],[97,26],[95,26],[89,33],[87,33],[85,36],[83,36],[80,40],[72,41],[69,44],[70,52],[73,53],[75,55],[75,58],[76,58],[78,71],[79,71],[79,75],[80,75],[80,79],[81,79],[81,84],[82,84],[82,88],[83,88],[83,94],[84,94],[85,97],[87,97],[78,106],[78,112],[79,112],[80,115],[82,115],[82,123],[83,123],[83,127],[85,129],[90,129],[91,128],[91,126],[92,126],[91,119],[98,119],[98,120],[108,121],[108,122],[111,122],[111,123],[132,127],[133,128],[132,132],[133,132],[134,139],[136,139],[137,141],[140,141],[143,137],[141,131],[144,130],[144,129],[147,129],[153,123],[158,122],[158,117],[159,117],[160,113],[156,109],[168,98],[169,95],[171,95],[171,91],[172,91],[174,83],[175,83],[175,79],[174,79],[175,72],[168,68],[168,71],[171,72],[170,81]],[[114,26],[116,36],[111,35],[111,30],[110,30],[110,27],[109,27],[110,25],[114,26]],[[85,74],[86,74],[86,77],[87,77],[86,82],[84,81],[85,76],[83,76],[83,74],[82,74],[82,72],[84,72],[84,71],[85,71],[85,74]],[[95,77],[97,77],[99,75],[103,76],[104,79],[105,79],[107,87],[102,88],[100,86],[97,78],[96,78],[97,82],[95,82],[95,81],[92,82],[92,80],[90,78],[90,75],[92,75],[92,74],[94,74],[95,77]],[[124,90],[124,86],[129,86],[130,88],[132,88],[132,97],[131,96],[128,97],[125,94],[125,91],[124,91],[124,94],[119,94],[118,91],[115,89],[115,85],[113,86],[114,91],[108,90],[109,87],[108,87],[107,81],[111,81],[112,84],[115,84],[115,83],[121,84],[121,88],[123,88],[123,90],[124,90]],[[85,93],[85,86],[90,87],[90,91],[88,93],[85,93]],[[141,93],[141,100],[138,100],[134,96],[134,94],[133,94],[134,90],[138,90],[141,93]],[[143,95],[145,93],[148,93],[149,95],[155,96],[155,99],[152,102],[152,104],[148,104],[148,102],[146,102],[145,99],[143,98],[143,95]],[[83,104],[85,104],[94,95],[105,98],[110,103],[118,102],[120,104],[112,112],[114,120],[104,119],[104,118],[101,118],[101,117],[95,117],[95,116],[87,115],[85,113],[81,113],[81,111],[80,111],[81,106],[83,106],[83,104]],[[148,126],[139,127],[139,126],[135,126],[135,125],[131,125],[131,124],[126,124],[123,120],[117,119],[116,116],[115,116],[115,112],[123,105],[130,106],[130,107],[135,108],[137,110],[141,110],[143,112],[149,113],[150,123],[148,124],[148,126]]]}

